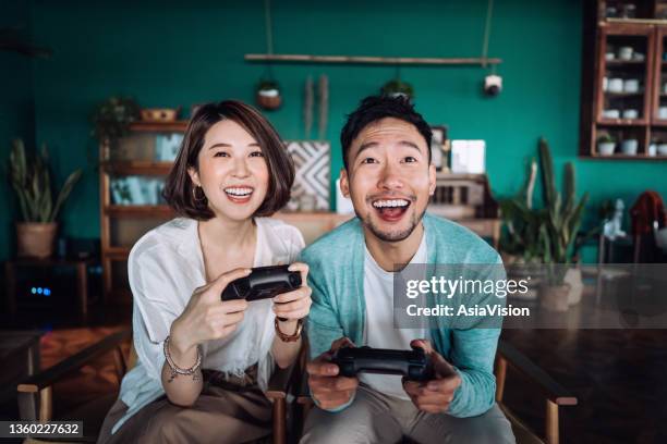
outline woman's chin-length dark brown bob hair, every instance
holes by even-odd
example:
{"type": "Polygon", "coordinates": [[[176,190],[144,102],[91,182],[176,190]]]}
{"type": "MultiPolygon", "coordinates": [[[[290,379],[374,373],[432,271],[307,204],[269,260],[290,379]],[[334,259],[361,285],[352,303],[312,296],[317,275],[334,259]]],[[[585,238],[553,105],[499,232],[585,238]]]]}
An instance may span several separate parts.
{"type": "Polygon", "coordinates": [[[223,120],[238,123],[259,144],[268,166],[269,183],[266,197],[253,217],[274,214],[290,199],[294,163],[269,121],[253,107],[237,100],[205,103],[197,108],[185,130],[179,156],[167,176],[162,192],[165,199],[179,215],[202,221],[215,215],[206,198],[193,196],[194,188],[187,169],[192,166],[198,171],[198,156],[206,133],[223,120]]]}

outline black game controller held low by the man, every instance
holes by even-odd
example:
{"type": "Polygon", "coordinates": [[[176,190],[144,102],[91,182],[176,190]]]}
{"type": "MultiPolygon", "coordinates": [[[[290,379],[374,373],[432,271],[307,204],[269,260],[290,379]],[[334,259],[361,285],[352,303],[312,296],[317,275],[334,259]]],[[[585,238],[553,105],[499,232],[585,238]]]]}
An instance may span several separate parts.
{"type": "Polygon", "coordinates": [[[402,374],[411,381],[433,379],[430,359],[420,347],[412,350],[392,350],[371,347],[343,347],[333,354],[331,362],[343,377],[355,377],[359,372],[402,374]]]}

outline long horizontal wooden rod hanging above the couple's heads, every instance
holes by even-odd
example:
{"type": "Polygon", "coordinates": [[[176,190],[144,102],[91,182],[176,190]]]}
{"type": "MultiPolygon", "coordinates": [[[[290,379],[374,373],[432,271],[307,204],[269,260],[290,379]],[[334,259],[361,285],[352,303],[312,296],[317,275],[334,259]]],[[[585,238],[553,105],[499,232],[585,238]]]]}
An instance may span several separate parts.
{"type": "Polygon", "coordinates": [[[410,65],[496,65],[500,59],[488,58],[413,58],[371,55],[312,55],[312,54],[245,54],[248,62],[279,63],[357,63],[357,64],[410,64],[410,65]]]}

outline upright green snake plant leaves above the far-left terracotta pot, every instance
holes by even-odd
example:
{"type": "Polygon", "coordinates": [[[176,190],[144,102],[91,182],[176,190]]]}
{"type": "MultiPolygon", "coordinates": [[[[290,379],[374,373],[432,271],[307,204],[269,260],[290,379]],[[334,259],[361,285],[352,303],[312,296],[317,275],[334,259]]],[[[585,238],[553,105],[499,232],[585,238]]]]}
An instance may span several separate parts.
{"type": "Polygon", "coordinates": [[[70,174],[53,205],[49,153],[46,146],[43,146],[41,152],[28,158],[23,140],[14,140],[10,151],[9,166],[10,181],[16,192],[21,214],[25,222],[53,222],[82,175],[81,170],[70,174]]]}

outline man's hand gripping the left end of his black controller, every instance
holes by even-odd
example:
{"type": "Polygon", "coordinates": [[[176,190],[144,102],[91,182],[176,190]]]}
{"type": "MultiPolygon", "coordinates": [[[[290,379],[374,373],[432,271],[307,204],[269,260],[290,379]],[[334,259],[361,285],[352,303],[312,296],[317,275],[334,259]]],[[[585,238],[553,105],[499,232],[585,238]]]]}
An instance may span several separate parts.
{"type": "Polygon", "coordinates": [[[339,368],[331,363],[333,353],[342,346],[354,346],[347,337],[331,343],[331,349],[325,351],[306,365],[311,394],[318,406],[325,410],[340,407],[352,399],[359,386],[357,378],[339,377],[339,368]]]}

